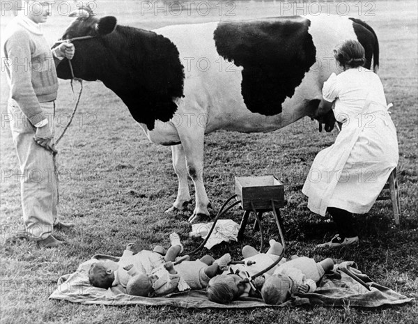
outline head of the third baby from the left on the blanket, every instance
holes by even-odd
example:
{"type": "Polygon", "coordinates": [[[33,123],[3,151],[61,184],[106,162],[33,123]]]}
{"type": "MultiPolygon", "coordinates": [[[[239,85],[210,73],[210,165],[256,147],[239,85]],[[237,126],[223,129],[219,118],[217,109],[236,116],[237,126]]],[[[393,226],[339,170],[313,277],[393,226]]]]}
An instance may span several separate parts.
{"type": "Polygon", "coordinates": [[[218,304],[228,304],[235,298],[238,288],[231,276],[219,275],[209,280],[206,287],[208,300],[218,304]]]}

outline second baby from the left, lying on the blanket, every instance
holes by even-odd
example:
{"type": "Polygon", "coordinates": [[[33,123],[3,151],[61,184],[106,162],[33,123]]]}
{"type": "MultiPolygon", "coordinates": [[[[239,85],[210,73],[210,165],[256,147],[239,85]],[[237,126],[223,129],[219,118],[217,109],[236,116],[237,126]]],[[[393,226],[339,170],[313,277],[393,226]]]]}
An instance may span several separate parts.
{"type": "Polygon", "coordinates": [[[206,288],[210,278],[220,271],[228,268],[231,261],[229,254],[215,261],[212,256],[206,255],[196,261],[189,261],[188,256],[176,262],[167,262],[153,272],[152,275],[135,275],[127,283],[127,293],[143,297],[167,295],[175,291],[184,291],[188,288],[206,288]]]}

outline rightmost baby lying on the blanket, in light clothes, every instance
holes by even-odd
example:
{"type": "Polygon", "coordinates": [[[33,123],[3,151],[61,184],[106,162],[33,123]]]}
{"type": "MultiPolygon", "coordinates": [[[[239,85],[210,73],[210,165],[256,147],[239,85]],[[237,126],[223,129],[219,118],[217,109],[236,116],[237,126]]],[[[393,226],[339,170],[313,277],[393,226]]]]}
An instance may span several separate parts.
{"type": "Polygon", "coordinates": [[[313,293],[316,283],[333,268],[334,261],[330,258],[316,263],[306,256],[294,256],[265,279],[261,296],[266,304],[281,304],[293,293],[313,293]]]}

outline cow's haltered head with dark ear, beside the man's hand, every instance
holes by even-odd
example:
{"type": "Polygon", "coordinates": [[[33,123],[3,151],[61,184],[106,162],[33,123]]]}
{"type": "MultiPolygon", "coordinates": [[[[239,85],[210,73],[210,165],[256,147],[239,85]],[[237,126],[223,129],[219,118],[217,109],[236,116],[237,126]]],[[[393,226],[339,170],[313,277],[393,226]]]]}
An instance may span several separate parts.
{"type": "MultiPolygon", "coordinates": [[[[75,77],[87,81],[100,79],[99,72],[106,68],[104,64],[111,60],[104,39],[109,38],[116,29],[116,17],[107,16],[99,19],[95,17],[90,6],[81,6],[68,16],[75,17],[75,20],[65,30],[61,39],[93,36],[84,40],[73,40],[75,56],[71,63],[75,77]]],[[[66,62],[59,64],[56,71],[61,79],[72,78],[66,62]]]]}

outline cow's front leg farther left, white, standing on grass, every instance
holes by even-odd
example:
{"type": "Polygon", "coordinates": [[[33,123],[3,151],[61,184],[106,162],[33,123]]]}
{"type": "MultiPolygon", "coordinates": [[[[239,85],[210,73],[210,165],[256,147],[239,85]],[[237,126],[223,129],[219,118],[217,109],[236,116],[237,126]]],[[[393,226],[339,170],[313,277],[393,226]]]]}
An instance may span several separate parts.
{"type": "Polygon", "coordinates": [[[177,199],[171,208],[166,210],[166,213],[171,213],[176,210],[183,210],[191,202],[189,193],[189,184],[187,183],[188,171],[186,167],[185,150],[182,144],[171,146],[171,154],[173,157],[173,168],[178,178],[177,199]]]}

